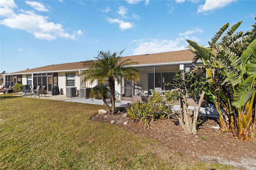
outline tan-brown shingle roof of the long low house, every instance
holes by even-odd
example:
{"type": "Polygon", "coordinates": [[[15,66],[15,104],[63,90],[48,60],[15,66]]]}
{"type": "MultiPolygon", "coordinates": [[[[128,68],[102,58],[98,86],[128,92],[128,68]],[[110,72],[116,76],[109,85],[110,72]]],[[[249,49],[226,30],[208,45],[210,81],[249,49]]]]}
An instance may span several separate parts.
{"type": "MultiPolygon", "coordinates": [[[[175,63],[182,61],[192,61],[194,53],[191,50],[182,50],[182,51],[170,51],[164,53],[154,53],[154,54],[144,54],[144,55],[133,55],[128,57],[122,57],[123,59],[131,59],[138,64],[156,64],[156,63],[175,63]]],[[[28,69],[24,71],[18,71],[9,74],[21,74],[21,73],[36,73],[36,72],[54,72],[54,71],[64,71],[64,70],[79,70],[85,69],[86,67],[82,66],[82,62],[74,63],[64,63],[64,64],[54,64],[47,65],[43,67],[38,67],[34,69],[28,69]]]]}

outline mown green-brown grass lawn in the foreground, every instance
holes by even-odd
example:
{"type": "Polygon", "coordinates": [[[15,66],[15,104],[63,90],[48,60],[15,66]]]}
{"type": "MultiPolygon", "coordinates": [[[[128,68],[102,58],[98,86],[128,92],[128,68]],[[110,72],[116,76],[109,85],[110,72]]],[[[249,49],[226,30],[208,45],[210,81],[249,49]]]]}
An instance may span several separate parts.
{"type": "MultiPolygon", "coordinates": [[[[211,169],[165,159],[157,141],[90,118],[102,109],[0,95],[0,167],[8,169],[211,169]]],[[[177,156],[179,154],[177,153],[177,156]]],[[[173,157],[173,156],[170,156],[173,157]]],[[[178,156],[180,157],[180,156],[178,156]]],[[[218,166],[220,167],[220,166],[218,166]]],[[[221,166],[220,169],[230,169],[221,166]]]]}

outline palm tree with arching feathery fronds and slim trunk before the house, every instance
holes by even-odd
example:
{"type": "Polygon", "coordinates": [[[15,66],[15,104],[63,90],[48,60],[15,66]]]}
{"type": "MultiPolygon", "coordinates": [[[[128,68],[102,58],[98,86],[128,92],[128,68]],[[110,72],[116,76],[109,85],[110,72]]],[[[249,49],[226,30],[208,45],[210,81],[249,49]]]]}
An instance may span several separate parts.
{"type": "Polygon", "coordinates": [[[98,56],[95,57],[97,60],[82,62],[85,67],[88,67],[87,70],[80,74],[80,76],[85,75],[82,79],[83,82],[90,81],[90,83],[93,83],[98,80],[99,85],[103,85],[105,81],[108,81],[112,101],[112,115],[114,115],[116,101],[115,82],[120,84],[123,78],[135,82],[140,79],[139,69],[131,66],[137,63],[132,62],[130,59],[123,59],[121,57],[123,51],[119,55],[116,52],[100,51],[98,56]]]}

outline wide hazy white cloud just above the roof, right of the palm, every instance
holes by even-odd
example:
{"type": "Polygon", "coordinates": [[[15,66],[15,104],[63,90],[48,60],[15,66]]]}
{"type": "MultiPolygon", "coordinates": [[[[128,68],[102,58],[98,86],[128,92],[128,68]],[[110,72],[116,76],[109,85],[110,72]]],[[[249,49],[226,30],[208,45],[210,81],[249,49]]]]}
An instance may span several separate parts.
{"type": "Polygon", "coordinates": [[[180,43],[185,43],[182,42],[182,39],[176,39],[175,41],[159,39],[133,40],[132,43],[134,42],[138,43],[138,47],[134,49],[133,55],[179,51],[186,49],[187,46],[180,45],[180,43]]]}

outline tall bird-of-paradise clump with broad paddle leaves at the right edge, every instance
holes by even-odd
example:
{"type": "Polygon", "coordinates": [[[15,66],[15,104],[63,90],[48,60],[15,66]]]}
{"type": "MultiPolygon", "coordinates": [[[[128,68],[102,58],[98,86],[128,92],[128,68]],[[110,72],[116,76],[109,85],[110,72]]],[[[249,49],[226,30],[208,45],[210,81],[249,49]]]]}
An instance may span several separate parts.
{"type": "Polygon", "coordinates": [[[240,24],[242,21],[229,30],[229,24],[224,24],[212,42],[208,42],[210,47],[187,42],[196,54],[194,61],[201,59],[202,68],[211,77],[207,94],[219,112],[222,131],[246,141],[256,126],[256,24],[246,33],[234,34],[240,24]],[[221,107],[225,115],[220,111],[221,107]]]}

